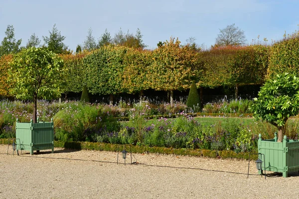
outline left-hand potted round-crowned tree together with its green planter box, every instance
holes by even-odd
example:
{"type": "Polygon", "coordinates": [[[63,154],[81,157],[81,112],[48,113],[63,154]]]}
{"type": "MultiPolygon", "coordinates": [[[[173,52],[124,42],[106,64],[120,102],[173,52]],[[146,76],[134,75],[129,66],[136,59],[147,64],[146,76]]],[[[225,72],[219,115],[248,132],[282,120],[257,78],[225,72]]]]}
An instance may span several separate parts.
{"type": "Polygon", "coordinates": [[[13,87],[10,92],[17,99],[33,101],[33,119],[22,123],[17,120],[16,140],[22,150],[54,151],[53,121],[41,122],[36,116],[37,99],[59,98],[65,69],[62,59],[46,48],[23,49],[14,55],[8,70],[8,80],[13,87]]]}

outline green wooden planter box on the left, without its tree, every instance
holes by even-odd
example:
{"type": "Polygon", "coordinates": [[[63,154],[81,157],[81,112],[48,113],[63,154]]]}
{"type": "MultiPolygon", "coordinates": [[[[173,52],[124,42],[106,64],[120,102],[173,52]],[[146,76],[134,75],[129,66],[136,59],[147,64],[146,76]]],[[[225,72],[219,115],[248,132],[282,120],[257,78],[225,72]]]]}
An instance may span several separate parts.
{"type": "Polygon", "coordinates": [[[32,119],[28,123],[21,123],[16,120],[15,138],[17,149],[29,151],[33,155],[33,151],[52,149],[54,153],[54,123],[51,122],[33,123],[32,119]]]}

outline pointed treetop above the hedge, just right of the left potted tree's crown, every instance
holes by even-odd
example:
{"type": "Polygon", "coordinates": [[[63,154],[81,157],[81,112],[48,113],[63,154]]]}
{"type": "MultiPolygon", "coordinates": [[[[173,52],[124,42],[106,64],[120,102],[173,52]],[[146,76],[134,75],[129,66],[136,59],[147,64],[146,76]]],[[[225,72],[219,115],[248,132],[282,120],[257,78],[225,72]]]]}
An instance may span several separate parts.
{"type": "Polygon", "coordinates": [[[69,53],[67,51],[67,46],[63,43],[65,36],[62,36],[60,31],[56,28],[56,24],[54,24],[52,31],[49,31],[50,36],[42,36],[44,40],[44,45],[52,52],[56,54],[64,54],[69,53]]]}

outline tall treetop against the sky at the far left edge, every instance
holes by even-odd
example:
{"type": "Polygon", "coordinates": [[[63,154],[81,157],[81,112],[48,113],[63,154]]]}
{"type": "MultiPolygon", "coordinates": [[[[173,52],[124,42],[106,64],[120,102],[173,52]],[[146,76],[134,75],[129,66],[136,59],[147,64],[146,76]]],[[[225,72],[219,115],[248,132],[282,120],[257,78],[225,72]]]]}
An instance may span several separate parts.
{"type": "Polygon", "coordinates": [[[13,25],[7,25],[5,37],[0,45],[0,56],[8,55],[10,53],[17,53],[20,50],[22,39],[15,40],[13,25]]]}

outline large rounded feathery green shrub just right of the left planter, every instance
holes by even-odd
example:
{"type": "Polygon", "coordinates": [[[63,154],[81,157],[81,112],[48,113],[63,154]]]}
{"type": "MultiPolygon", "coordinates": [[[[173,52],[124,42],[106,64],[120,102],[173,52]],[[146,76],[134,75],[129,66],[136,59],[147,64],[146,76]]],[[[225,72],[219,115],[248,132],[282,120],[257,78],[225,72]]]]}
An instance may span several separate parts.
{"type": "Polygon", "coordinates": [[[120,130],[119,122],[103,112],[101,106],[69,104],[53,119],[55,139],[62,141],[100,141],[99,136],[111,138],[110,133],[120,130]]]}

